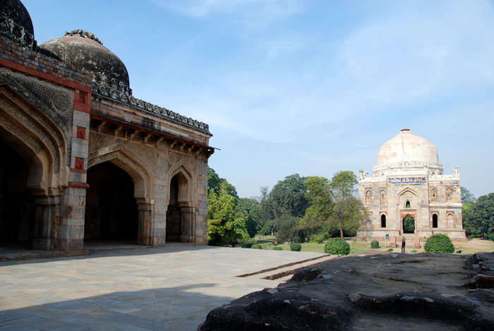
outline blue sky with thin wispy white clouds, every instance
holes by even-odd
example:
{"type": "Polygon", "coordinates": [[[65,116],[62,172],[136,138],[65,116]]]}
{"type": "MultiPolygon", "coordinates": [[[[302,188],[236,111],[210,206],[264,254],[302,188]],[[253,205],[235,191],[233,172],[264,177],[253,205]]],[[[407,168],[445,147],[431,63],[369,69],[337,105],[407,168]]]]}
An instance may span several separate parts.
{"type": "Polygon", "coordinates": [[[372,173],[402,128],[494,191],[494,1],[24,0],[38,43],[93,32],[133,95],[210,124],[241,197],[372,173]]]}

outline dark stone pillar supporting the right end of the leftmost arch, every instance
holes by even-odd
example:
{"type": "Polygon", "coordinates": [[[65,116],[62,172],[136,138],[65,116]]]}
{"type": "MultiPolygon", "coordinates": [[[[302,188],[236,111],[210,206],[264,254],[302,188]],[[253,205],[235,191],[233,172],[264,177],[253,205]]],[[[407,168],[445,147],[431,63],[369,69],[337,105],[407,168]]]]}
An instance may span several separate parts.
{"type": "Polygon", "coordinates": [[[53,248],[56,210],[59,196],[44,196],[35,199],[35,238],[32,248],[48,251],[53,248]]]}

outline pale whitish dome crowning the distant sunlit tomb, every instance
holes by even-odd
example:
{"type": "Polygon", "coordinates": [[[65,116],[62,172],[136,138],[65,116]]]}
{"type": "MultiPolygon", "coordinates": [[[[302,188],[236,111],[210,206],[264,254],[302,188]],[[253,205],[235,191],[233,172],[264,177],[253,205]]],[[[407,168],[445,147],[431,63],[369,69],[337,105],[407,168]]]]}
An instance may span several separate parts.
{"type": "Polygon", "coordinates": [[[438,149],[430,141],[403,129],[378,151],[374,171],[383,169],[442,169],[438,149]]]}

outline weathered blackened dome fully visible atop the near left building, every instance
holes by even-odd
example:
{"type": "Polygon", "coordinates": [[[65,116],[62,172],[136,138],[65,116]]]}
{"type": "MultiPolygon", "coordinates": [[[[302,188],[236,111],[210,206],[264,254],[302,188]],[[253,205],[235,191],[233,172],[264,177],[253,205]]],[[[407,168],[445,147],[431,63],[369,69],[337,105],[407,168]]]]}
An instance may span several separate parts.
{"type": "Polygon", "coordinates": [[[106,79],[110,83],[114,78],[117,84],[121,82],[127,87],[129,85],[127,68],[121,59],[104,47],[91,32],[84,30],[66,32],[64,37],[43,42],[40,44],[40,49],[66,64],[84,68],[101,76],[97,78],[98,80],[106,79]]]}

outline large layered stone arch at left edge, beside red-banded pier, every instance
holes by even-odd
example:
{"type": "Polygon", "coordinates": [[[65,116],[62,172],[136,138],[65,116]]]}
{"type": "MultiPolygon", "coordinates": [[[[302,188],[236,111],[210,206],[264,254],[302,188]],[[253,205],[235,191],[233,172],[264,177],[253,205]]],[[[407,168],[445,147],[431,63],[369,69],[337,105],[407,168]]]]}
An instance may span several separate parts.
{"type": "Polygon", "coordinates": [[[59,126],[16,90],[0,85],[0,136],[28,164],[35,195],[60,195],[68,186],[66,140],[59,126]]]}

